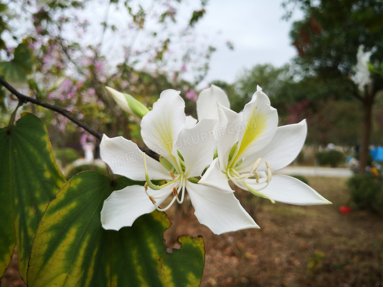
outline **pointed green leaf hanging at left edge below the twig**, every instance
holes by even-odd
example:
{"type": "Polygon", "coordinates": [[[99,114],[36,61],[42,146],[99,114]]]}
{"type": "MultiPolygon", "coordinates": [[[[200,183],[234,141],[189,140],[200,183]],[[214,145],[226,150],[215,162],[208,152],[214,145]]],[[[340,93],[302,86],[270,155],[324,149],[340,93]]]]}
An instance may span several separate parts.
{"type": "Polygon", "coordinates": [[[20,274],[27,279],[33,236],[64,183],[39,118],[24,113],[10,130],[0,129],[0,276],[17,244],[20,274]]]}

